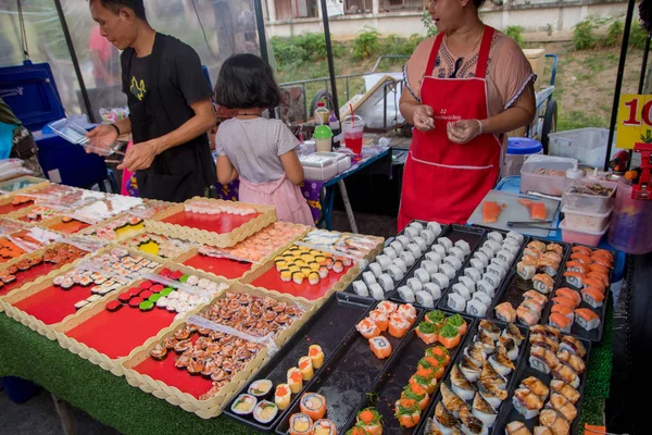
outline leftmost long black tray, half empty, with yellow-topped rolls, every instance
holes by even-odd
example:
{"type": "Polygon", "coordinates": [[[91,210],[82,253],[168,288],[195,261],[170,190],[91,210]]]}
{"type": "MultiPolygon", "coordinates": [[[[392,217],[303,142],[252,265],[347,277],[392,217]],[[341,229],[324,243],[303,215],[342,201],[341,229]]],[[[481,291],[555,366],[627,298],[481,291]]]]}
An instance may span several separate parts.
{"type": "MultiPolygon", "coordinates": [[[[313,314],[313,316],[290,338],[290,340],[267,362],[256,374],[251,376],[244,387],[238,393],[246,394],[250,385],[258,380],[269,380],[273,389],[267,400],[274,400],[274,388],[278,384],[287,383],[287,372],[298,366],[299,359],[308,356],[311,345],[319,345],[324,352],[324,364],[314,371],[314,376],[322,375],[323,370],[337,353],[344,337],[354,331],[355,324],[361,321],[373,304],[373,300],[356,295],[336,293],[313,314]]],[[[274,420],[268,423],[259,423],[251,415],[242,417],[231,411],[235,400],[228,403],[224,413],[247,424],[258,431],[272,432],[274,427],[287,417],[287,413],[296,405],[304,393],[310,381],[304,382],[303,387],[297,394],[292,394],[290,405],[285,410],[279,410],[274,420]]],[[[236,396],[237,398],[237,396],[236,396]]]]}

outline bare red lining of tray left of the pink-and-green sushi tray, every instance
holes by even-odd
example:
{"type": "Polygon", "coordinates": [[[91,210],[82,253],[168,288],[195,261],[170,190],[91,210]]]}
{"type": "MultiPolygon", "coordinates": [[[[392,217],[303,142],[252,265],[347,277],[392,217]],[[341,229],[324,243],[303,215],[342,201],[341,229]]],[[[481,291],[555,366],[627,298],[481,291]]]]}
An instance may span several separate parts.
{"type": "Polygon", "coordinates": [[[59,323],[77,310],[75,303],[92,295],[92,286],[74,286],[70,290],[50,286],[14,303],[18,310],[34,315],[47,325],[59,323]]]}

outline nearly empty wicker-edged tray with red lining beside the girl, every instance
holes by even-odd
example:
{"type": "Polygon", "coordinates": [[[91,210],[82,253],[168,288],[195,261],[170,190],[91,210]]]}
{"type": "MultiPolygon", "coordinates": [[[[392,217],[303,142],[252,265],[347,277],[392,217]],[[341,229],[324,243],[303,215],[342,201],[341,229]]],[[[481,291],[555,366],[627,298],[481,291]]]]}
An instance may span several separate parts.
{"type": "MultiPolygon", "coordinates": [[[[215,207],[234,207],[231,201],[204,198],[192,198],[186,203],[191,201],[205,201],[215,207]]],[[[240,215],[189,213],[186,212],[186,203],[176,204],[147,219],[145,221],[146,229],[181,240],[227,248],[276,221],[276,210],[269,206],[246,204],[254,209],[256,213],[240,215]]]]}

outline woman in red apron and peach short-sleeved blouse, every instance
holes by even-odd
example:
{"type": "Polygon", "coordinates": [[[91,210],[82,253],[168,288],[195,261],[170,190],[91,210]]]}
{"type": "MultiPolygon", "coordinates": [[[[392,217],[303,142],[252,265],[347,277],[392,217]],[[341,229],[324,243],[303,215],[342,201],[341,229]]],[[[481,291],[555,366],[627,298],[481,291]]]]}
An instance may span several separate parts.
{"type": "Polygon", "coordinates": [[[399,229],[412,220],[466,223],[500,177],[503,134],[535,115],[531,66],[516,42],[485,26],[484,0],[431,0],[439,34],[404,70],[401,113],[414,126],[399,229]]]}

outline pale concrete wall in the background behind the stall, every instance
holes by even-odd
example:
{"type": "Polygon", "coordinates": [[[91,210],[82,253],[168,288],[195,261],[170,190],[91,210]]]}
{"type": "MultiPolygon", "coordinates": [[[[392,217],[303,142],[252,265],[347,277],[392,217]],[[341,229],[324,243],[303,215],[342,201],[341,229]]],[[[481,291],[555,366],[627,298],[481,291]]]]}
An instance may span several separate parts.
{"type": "MultiPolygon", "coordinates": [[[[267,1],[268,16],[274,17],[271,10],[273,0],[267,1]]],[[[525,27],[523,35],[525,40],[555,41],[570,39],[573,27],[589,16],[614,17],[625,15],[626,11],[626,1],[518,0],[517,4],[510,3],[509,7],[502,8],[492,5],[491,9],[484,9],[480,11],[480,15],[486,24],[499,29],[506,26],[525,27]]],[[[418,11],[333,16],[329,21],[330,34],[334,39],[352,39],[364,26],[371,26],[384,36],[425,35],[425,27],[421,18],[422,13],[418,11]]],[[[266,28],[269,36],[280,37],[323,32],[322,18],[271,21],[266,28]]]]}

